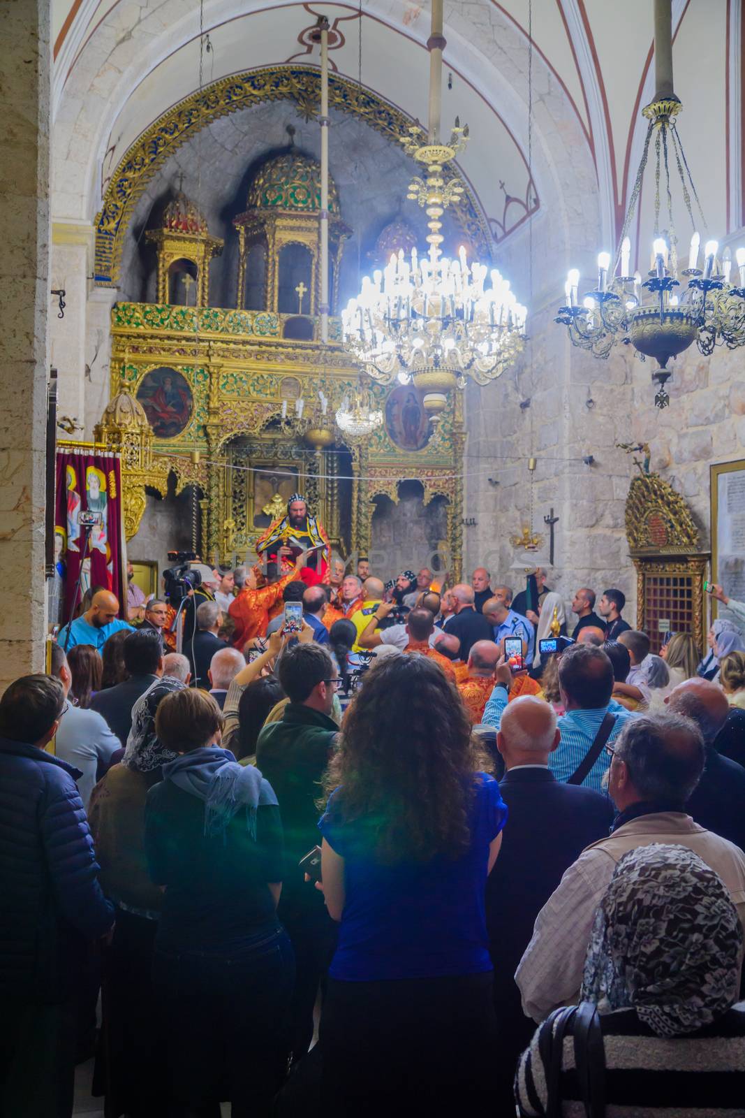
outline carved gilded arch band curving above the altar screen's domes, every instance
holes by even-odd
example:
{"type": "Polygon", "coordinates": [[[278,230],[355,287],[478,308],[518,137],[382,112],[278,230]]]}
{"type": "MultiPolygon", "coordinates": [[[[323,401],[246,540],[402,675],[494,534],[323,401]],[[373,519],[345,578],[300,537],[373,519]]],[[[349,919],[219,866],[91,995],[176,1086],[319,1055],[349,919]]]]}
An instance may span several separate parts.
{"type": "MultiPolygon", "coordinates": [[[[316,105],[319,80],[317,67],[266,67],[213,82],[160,116],[124,154],[106,187],[96,216],[95,282],[102,286],[116,285],[124,236],[136,201],[155,171],[185,140],[213,120],[262,102],[292,101],[298,108],[316,105]]],[[[409,117],[356,82],[332,74],[328,85],[332,108],[357,116],[394,143],[408,135],[409,117]]],[[[447,172],[464,189],[450,212],[471,246],[471,255],[488,258],[491,237],[487,220],[458,167],[448,164],[447,172]]]]}

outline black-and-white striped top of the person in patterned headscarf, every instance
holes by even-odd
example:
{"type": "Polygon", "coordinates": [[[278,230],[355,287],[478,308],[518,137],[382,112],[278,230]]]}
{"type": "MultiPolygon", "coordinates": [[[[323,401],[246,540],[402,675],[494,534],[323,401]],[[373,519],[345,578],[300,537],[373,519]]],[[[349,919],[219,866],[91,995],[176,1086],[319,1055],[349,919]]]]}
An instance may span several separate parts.
{"type": "MultiPolygon", "coordinates": [[[[733,1006],[711,1025],[689,1036],[657,1036],[634,1010],[617,1010],[600,1018],[605,1049],[605,1112],[608,1118],[743,1118],[745,1115],[745,1002],[733,1006]]],[[[523,1116],[548,1109],[547,1069],[539,1051],[543,1030],[553,1030],[554,1016],[536,1030],[520,1057],[515,1098],[523,1116]]],[[[562,1053],[561,1114],[584,1118],[574,1063],[570,1024],[562,1053]]]]}

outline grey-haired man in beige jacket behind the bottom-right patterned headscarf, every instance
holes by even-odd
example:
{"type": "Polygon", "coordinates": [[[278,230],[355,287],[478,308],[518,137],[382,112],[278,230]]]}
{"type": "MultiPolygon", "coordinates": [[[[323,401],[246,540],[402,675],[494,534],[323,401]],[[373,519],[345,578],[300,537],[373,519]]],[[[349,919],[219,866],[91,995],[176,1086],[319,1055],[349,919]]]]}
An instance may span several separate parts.
{"type": "Polygon", "coordinates": [[[595,909],[618,862],[637,846],[670,843],[693,850],[722,878],[741,922],[745,917],[745,854],[686,812],[706,758],[696,723],[679,714],[647,714],[629,720],[605,749],[611,754],[608,788],[618,811],[610,837],[589,846],[567,869],[538,913],[515,974],[523,1010],[534,1021],[577,999],[595,909]]]}

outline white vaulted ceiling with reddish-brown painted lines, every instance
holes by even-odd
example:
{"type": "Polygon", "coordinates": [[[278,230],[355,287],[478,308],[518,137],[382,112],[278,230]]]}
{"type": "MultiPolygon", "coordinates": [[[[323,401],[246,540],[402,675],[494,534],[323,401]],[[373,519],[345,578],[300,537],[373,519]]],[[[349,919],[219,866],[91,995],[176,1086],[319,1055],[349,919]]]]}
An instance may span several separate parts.
{"type": "MultiPolygon", "coordinates": [[[[680,133],[709,226],[723,234],[743,224],[741,3],[674,0],[672,9],[680,133]]],[[[52,0],[52,15],[56,220],[94,220],[134,141],[200,86],[316,64],[318,15],[329,20],[340,76],[361,77],[409,117],[427,116],[424,0],[203,0],[201,9],[198,0],[52,0]]],[[[600,236],[610,247],[641,152],[639,110],[653,93],[651,0],[533,0],[532,11],[528,0],[446,0],[445,23],[443,131],[456,115],[470,126],[458,162],[495,243],[524,226],[535,201],[531,155],[538,207],[554,208],[558,225],[585,219],[588,247],[600,236]]],[[[545,226],[546,246],[558,245],[558,225],[545,226]]]]}

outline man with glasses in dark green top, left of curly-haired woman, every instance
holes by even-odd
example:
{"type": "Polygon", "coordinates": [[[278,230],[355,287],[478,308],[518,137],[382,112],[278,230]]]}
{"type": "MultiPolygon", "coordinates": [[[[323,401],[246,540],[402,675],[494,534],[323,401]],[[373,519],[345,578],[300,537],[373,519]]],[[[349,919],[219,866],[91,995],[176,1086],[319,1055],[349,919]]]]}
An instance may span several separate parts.
{"type": "Polygon", "coordinates": [[[295,949],[292,1049],[299,1059],[313,1039],[313,1006],[334,947],[335,926],[323,894],[303,880],[298,863],[319,841],[316,800],[338,732],[331,711],[340,680],[329,654],[315,641],[287,645],[276,672],[289,702],[281,719],[260,731],[256,765],[276,793],[285,832],[277,915],[295,949]]]}

